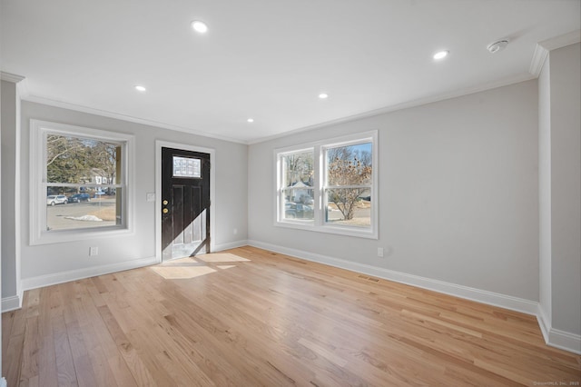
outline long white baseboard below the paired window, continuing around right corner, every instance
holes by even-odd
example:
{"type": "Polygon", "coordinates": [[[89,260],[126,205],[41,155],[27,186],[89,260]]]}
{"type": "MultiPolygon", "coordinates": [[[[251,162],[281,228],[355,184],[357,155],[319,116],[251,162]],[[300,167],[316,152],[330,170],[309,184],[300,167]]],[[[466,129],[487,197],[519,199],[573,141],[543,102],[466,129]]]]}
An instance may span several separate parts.
{"type": "Polygon", "coordinates": [[[543,333],[543,338],[547,345],[581,354],[581,336],[576,333],[559,331],[551,327],[551,322],[543,312],[539,303],[522,298],[513,297],[506,294],[493,293],[480,289],[470,288],[468,286],[458,285],[456,283],[445,283],[443,281],[432,280],[418,275],[395,272],[389,269],[370,266],[363,263],[354,263],[350,261],[333,258],[327,255],[309,253],[302,250],[291,249],[271,243],[260,241],[248,241],[248,244],[261,249],[270,250],[275,253],[295,256],[300,259],[316,263],[324,263],[330,266],[347,269],[356,273],[372,275],[396,283],[405,283],[423,289],[428,289],[438,293],[445,293],[459,298],[486,303],[488,305],[498,306],[511,311],[527,313],[537,316],[537,322],[543,333]]]}

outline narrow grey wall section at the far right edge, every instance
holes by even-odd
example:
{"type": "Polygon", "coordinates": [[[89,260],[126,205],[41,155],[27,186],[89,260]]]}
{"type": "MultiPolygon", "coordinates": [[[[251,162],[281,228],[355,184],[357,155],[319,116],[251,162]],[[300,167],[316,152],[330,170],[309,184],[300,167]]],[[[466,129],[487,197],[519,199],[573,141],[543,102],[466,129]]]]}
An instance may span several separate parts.
{"type": "Polygon", "coordinates": [[[568,45],[549,54],[552,328],[577,335],[581,334],[580,47],[568,45]]]}

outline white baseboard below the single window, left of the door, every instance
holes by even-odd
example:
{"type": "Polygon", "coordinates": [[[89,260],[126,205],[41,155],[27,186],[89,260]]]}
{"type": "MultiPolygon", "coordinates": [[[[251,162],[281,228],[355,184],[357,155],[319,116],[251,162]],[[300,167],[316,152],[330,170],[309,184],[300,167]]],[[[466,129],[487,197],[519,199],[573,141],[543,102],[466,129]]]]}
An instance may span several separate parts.
{"type": "Polygon", "coordinates": [[[63,273],[40,275],[38,277],[24,278],[22,287],[25,291],[40,288],[43,286],[55,285],[57,283],[68,283],[70,281],[81,280],[108,273],[123,272],[123,270],[136,269],[138,267],[149,266],[159,263],[156,257],[136,259],[122,263],[103,264],[101,266],[87,267],[86,269],[71,270],[63,273]]]}

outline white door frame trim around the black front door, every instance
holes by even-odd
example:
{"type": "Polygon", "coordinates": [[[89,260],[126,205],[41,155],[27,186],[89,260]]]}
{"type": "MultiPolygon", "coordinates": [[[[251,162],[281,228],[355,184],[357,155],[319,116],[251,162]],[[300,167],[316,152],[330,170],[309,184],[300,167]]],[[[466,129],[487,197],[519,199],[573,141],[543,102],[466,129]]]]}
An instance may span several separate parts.
{"type": "Polygon", "coordinates": [[[155,140],[155,258],[162,263],[162,148],[210,154],[210,251],[214,251],[216,240],[216,150],[197,145],[155,140]]]}

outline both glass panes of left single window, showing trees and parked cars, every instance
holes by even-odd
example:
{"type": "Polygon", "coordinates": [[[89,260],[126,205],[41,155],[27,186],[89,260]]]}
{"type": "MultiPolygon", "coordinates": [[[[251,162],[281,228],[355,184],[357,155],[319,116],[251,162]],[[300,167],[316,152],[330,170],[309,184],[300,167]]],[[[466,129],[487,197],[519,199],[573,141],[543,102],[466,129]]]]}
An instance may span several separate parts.
{"type": "Polygon", "coordinates": [[[121,224],[122,144],[55,133],[45,141],[46,230],[121,224]]]}

